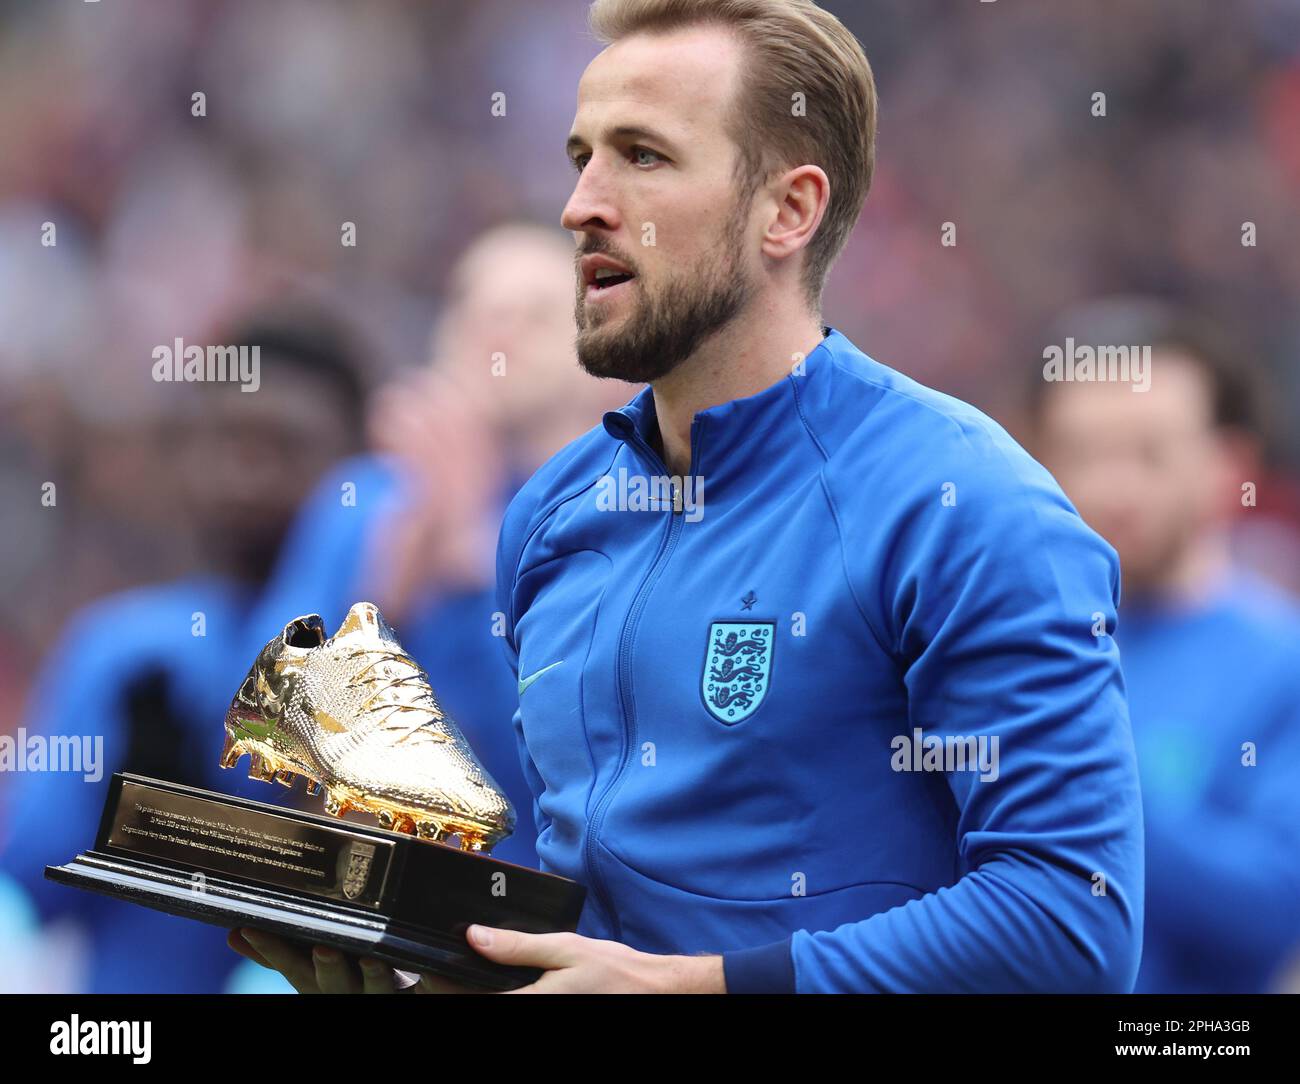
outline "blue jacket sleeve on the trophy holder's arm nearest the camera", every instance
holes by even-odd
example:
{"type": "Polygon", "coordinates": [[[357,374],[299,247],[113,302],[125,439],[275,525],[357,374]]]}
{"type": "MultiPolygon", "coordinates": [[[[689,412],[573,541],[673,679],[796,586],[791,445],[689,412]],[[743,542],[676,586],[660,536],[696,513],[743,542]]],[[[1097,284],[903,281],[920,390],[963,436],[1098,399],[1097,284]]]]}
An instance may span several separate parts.
{"type": "MultiPolygon", "coordinates": [[[[1118,559],[1006,446],[883,464],[888,515],[863,507],[861,480],[828,476],[852,590],[907,690],[898,738],[983,738],[996,769],[946,773],[953,884],[789,938],[801,993],[1132,989],[1143,820],[1112,638],[1118,559]]],[[[724,966],[745,989],[781,989],[780,946],[724,966]]]]}

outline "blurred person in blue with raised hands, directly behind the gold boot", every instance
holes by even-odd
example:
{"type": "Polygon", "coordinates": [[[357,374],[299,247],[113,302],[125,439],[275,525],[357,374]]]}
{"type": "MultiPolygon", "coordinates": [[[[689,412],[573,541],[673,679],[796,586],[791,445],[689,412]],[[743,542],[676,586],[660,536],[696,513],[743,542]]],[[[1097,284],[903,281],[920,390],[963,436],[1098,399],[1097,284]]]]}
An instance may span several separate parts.
{"type": "Polygon", "coordinates": [[[528,476],[627,398],[578,368],[572,264],[549,226],[508,222],[469,244],[430,364],[374,396],[376,451],[338,464],[303,504],[244,645],[251,660],[292,617],[320,613],[333,632],[352,603],[377,603],[515,805],[493,857],[532,867],[517,694],[494,619],[497,532],[528,476]]]}

